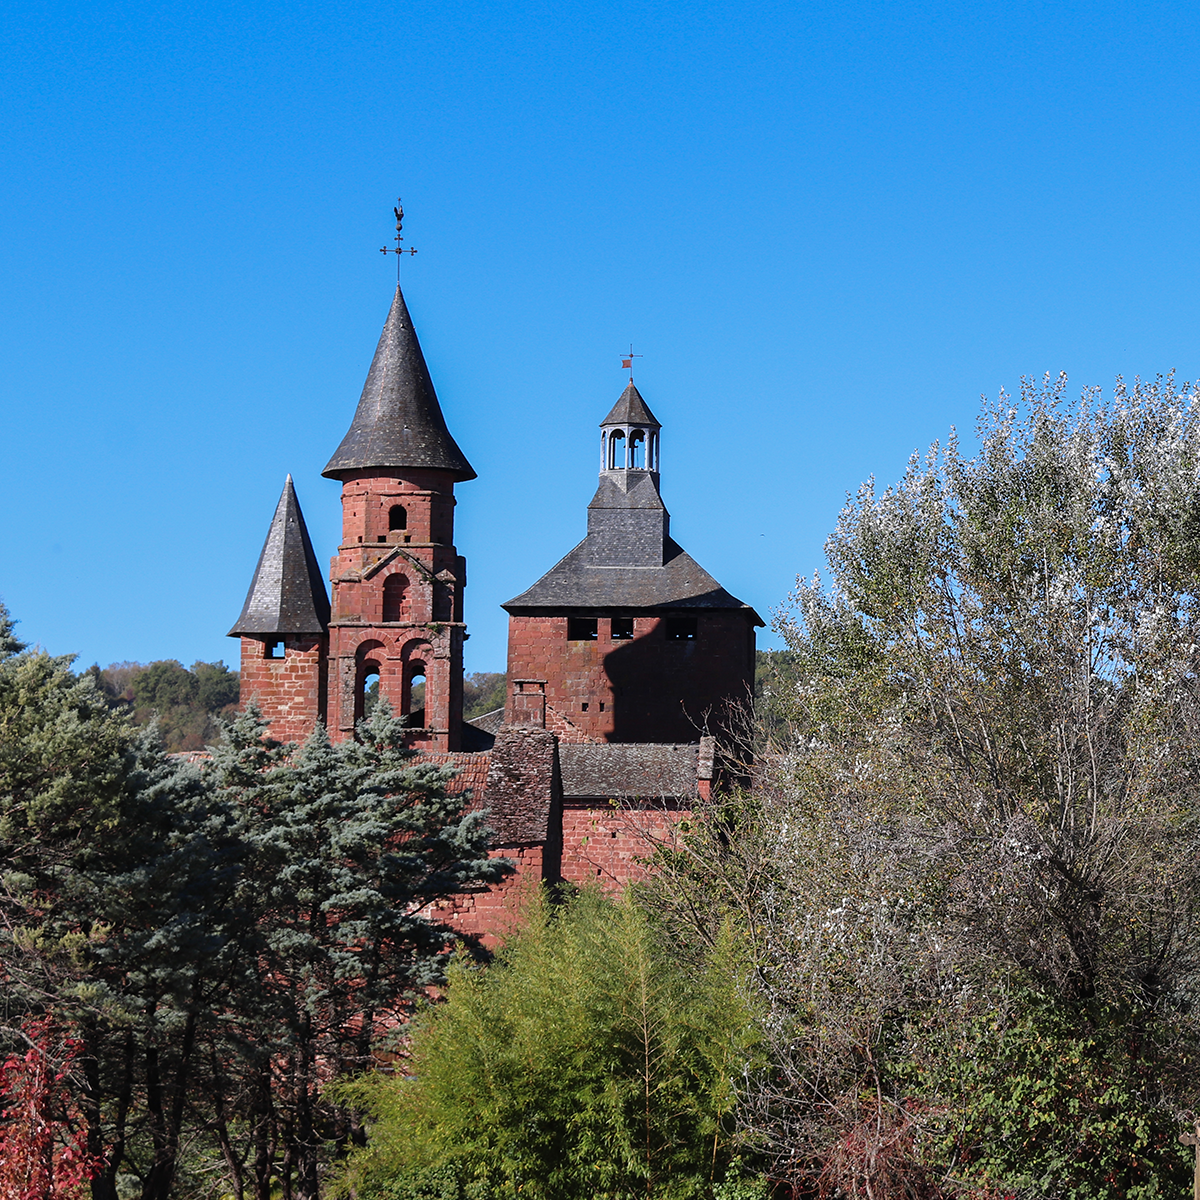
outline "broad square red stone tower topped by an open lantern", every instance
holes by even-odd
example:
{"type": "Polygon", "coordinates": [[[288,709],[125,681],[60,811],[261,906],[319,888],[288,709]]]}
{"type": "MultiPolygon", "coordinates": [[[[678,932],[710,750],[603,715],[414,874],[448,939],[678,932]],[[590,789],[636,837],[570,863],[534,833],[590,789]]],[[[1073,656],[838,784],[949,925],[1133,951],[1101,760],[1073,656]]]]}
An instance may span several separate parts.
{"type": "Polygon", "coordinates": [[[660,425],[632,383],[600,425],[588,534],[509,612],[510,695],[545,685],[566,743],[698,743],[754,690],[754,608],[670,536],[660,425]]]}

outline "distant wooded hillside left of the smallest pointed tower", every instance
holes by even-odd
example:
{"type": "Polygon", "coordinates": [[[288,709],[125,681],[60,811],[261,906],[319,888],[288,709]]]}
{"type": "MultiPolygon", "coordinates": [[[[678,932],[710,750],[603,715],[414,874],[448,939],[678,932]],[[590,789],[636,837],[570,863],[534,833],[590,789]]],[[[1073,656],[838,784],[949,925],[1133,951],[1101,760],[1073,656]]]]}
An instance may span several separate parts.
{"type": "Polygon", "coordinates": [[[175,659],[157,662],[110,662],[86,672],[114,708],[126,709],[138,725],[158,722],[168,750],[203,750],[216,742],[221,718],[238,707],[238,672],[223,662],[193,662],[191,670],[175,659]]]}

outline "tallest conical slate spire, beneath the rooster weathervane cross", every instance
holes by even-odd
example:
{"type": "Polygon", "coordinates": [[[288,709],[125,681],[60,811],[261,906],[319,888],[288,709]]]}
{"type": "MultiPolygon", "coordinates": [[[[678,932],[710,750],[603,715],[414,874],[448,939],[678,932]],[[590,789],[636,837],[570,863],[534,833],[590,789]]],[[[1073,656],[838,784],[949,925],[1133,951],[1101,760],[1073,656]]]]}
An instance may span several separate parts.
{"type": "Polygon", "coordinates": [[[371,467],[425,467],[452,472],[456,480],[475,478],[446,428],[398,284],[349,432],[322,474],[343,479],[371,467]]]}

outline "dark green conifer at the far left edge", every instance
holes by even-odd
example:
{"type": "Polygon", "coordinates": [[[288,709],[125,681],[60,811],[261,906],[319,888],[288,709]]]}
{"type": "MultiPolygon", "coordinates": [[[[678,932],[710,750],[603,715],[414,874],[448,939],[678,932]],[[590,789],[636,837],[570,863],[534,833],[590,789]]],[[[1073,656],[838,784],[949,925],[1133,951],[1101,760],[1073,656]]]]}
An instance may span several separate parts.
{"type": "Polygon", "coordinates": [[[4,1024],[10,1046],[40,1014],[78,1034],[96,1198],[130,1169],[145,1200],[170,1190],[220,986],[227,824],[152,731],[70,658],[22,650],[0,610],[4,1024]]]}

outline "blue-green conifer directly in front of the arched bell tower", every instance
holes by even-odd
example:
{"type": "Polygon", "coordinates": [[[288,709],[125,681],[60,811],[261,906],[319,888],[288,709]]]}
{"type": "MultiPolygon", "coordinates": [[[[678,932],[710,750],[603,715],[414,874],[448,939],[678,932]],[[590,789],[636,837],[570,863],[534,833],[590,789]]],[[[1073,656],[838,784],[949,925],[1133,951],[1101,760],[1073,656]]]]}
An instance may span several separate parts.
{"type": "Polygon", "coordinates": [[[246,854],[211,1114],[239,1196],[269,1200],[281,1183],[316,1200],[329,1146],[356,1135],[325,1082],[373,1062],[442,982],[454,935],[438,901],[511,870],[488,857],[484,816],[448,794],[450,772],[414,761],[403,730],[379,702],[356,740],[335,745],[318,725],[293,750],[265,743],[248,710],[215,750],[206,778],[246,854]]]}

